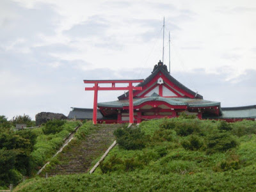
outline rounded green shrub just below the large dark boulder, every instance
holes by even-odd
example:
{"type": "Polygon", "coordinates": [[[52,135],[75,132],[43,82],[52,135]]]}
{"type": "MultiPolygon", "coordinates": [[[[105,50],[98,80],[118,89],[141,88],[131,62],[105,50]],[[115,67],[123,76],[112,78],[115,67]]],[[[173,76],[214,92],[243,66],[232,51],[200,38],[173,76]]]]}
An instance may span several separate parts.
{"type": "Polygon", "coordinates": [[[65,122],[65,120],[48,121],[43,128],[44,134],[56,134],[57,132],[62,131],[62,125],[64,125],[65,122]]]}

